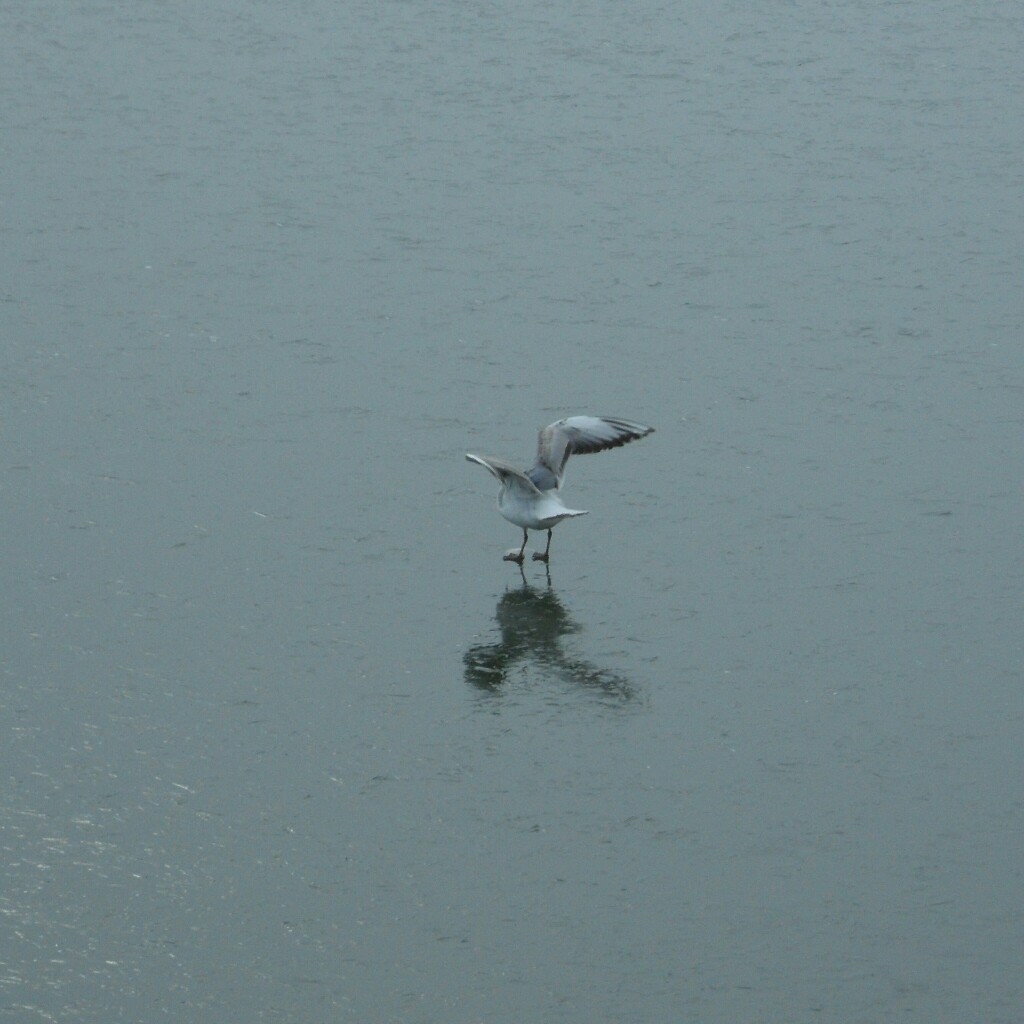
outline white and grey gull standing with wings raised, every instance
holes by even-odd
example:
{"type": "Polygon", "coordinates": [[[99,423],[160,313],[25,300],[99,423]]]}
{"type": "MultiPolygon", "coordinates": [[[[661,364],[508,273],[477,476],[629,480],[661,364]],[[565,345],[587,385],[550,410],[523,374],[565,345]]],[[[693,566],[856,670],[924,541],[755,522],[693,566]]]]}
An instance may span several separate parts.
{"type": "Polygon", "coordinates": [[[620,447],[653,432],[653,427],[611,416],[569,416],[538,434],[537,462],[525,472],[501,459],[481,459],[467,453],[470,462],[478,463],[501,482],[498,511],[522,530],[522,547],[507,552],[505,561],[521,566],[529,537],[527,530],[546,529],[548,546],[543,553],[534,552],[536,561],[546,562],[551,551],[551,530],[562,519],[587,515],[579,509],[567,509],[558,494],[570,455],[590,455],[620,447]]]}

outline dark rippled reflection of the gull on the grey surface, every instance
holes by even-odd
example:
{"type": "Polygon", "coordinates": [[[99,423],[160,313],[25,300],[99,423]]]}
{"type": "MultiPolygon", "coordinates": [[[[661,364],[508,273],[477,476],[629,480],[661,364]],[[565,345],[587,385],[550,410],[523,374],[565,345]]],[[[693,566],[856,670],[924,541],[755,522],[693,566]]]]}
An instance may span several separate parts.
{"type": "Polygon", "coordinates": [[[463,655],[466,682],[481,690],[498,690],[518,662],[532,662],[574,686],[594,690],[616,700],[632,700],[636,691],[628,679],[566,654],[562,637],[579,633],[580,626],[551,589],[528,584],[506,591],[495,618],[501,630],[497,643],[477,644],[463,655]]]}

